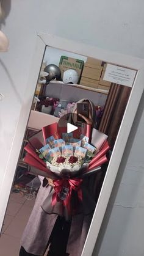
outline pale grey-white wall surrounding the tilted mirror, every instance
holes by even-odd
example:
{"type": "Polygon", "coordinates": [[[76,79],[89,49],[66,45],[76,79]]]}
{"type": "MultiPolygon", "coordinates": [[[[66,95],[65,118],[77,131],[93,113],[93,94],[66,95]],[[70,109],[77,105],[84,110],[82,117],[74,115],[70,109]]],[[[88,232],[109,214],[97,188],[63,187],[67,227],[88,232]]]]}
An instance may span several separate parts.
{"type": "MultiPolygon", "coordinates": [[[[10,47],[8,53],[0,53],[0,93],[5,95],[4,100],[0,102],[0,188],[4,181],[7,159],[20,115],[37,31],[49,32],[144,59],[143,0],[12,0],[11,2],[2,0],[1,2],[7,14],[1,29],[9,37],[10,47]]],[[[100,234],[102,242],[98,241],[93,255],[144,254],[142,249],[143,126],[142,115],[135,119],[126,148],[127,153],[124,154],[120,168],[120,171],[123,170],[123,178],[117,181],[114,205],[111,203],[107,211],[100,234]],[[139,243],[136,243],[135,238],[138,235],[139,243]],[[137,253],[134,251],[134,246],[137,253]]],[[[13,174],[9,174],[9,179],[5,183],[9,191],[12,178],[13,174]]],[[[3,196],[5,195],[2,195],[0,190],[0,200],[3,196]]]]}

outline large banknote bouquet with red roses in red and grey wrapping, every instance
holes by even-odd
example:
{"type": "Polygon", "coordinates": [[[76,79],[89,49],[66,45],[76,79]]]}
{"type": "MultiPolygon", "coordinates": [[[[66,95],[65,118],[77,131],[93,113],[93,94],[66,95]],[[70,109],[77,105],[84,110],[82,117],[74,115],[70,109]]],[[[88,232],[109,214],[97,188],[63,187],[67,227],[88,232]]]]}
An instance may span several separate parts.
{"type": "Polygon", "coordinates": [[[84,211],[84,198],[88,199],[85,177],[108,161],[106,153],[110,147],[106,139],[106,134],[91,130],[86,124],[67,133],[66,128],[57,129],[57,123],[42,128],[29,139],[24,161],[39,169],[40,175],[54,180],[54,189],[41,206],[43,210],[66,218],[84,211]]]}

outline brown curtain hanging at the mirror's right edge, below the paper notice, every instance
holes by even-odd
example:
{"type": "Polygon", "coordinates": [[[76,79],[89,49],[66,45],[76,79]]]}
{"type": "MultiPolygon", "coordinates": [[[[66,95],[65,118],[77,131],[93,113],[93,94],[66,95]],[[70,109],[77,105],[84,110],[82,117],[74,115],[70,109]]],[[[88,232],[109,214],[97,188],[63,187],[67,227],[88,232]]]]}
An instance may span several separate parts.
{"type": "Polygon", "coordinates": [[[119,84],[110,86],[98,130],[108,135],[108,142],[111,148],[115,144],[130,93],[131,87],[119,84]]]}

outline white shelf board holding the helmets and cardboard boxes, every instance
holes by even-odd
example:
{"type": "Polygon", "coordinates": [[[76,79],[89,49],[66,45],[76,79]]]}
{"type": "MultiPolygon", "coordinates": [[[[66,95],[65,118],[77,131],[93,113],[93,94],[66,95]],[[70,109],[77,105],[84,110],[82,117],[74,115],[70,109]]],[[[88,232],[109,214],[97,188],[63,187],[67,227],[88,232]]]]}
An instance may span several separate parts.
{"type": "Polygon", "coordinates": [[[65,84],[62,81],[57,81],[57,80],[51,80],[50,82],[54,83],[54,84],[63,84],[65,86],[72,86],[72,87],[77,87],[80,89],[84,89],[84,90],[91,90],[92,92],[99,92],[99,93],[104,93],[104,94],[108,94],[109,90],[103,90],[103,89],[98,89],[98,88],[93,88],[93,87],[88,87],[88,86],[82,86],[81,84],[65,84]]]}

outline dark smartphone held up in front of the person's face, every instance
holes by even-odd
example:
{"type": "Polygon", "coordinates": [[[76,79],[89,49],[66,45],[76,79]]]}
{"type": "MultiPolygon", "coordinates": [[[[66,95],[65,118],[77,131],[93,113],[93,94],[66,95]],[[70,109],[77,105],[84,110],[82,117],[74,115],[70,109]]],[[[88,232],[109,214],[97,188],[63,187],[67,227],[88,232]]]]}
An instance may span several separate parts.
{"type": "Polygon", "coordinates": [[[84,115],[89,118],[89,104],[88,102],[77,103],[77,121],[86,123],[85,120],[79,116],[79,114],[84,115]]]}

